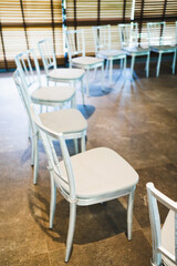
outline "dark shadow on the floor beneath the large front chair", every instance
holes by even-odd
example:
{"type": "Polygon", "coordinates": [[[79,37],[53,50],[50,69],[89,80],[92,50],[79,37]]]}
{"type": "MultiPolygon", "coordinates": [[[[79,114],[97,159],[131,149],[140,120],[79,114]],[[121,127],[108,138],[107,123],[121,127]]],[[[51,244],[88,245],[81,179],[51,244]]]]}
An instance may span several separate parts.
{"type": "MultiPolygon", "coordinates": [[[[49,191],[49,187],[45,187],[49,191]]],[[[53,229],[49,228],[50,200],[46,192],[29,191],[29,209],[34,222],[53,242],[65,243],[69,225],[69,203],[60,195],[56,203],[56,213],[53,229]],[[39,214],[39,211],[41,214],[39,214]],[[59,235],[59,236],[58,236],[59,235]]],[[[75,244],[87,244],[126,233],[126,209],[119,201],[114,200],[87,207],[77,207],[75,244]]]]}

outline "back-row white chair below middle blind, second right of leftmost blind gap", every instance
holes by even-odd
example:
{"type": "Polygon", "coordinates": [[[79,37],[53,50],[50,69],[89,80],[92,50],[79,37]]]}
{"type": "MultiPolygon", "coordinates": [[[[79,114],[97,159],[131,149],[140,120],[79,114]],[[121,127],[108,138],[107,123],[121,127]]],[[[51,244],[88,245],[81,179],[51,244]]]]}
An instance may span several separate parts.
{"type": "Polygon", "coordinates": [[[111,25],[93,27],[95,55],[106,61],[106,69],[110,69],[110,84],[113,76],[113,62],[121,60],[121,66],[124,61],[124,71],[126,69],[126,52],[112,48],[111,25]]]}

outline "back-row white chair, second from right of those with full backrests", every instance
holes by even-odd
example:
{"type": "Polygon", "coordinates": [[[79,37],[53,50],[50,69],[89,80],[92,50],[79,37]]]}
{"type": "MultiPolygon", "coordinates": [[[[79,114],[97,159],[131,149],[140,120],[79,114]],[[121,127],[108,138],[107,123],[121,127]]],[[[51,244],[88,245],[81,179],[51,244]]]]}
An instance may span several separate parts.
{"type": "Polygon", "coordinates": [[[137,23],[124,23],[118,24],[119,31],[119,40],[122,49],[132,58],[131,61],[131,76],[133,79],[134,73],[134,64],[136,57],[146,55],[146,76],[149,75],[149,58],[150,58],[150,50],[149,48],[139,47],[138,43],[138,28],[137,23]]]}

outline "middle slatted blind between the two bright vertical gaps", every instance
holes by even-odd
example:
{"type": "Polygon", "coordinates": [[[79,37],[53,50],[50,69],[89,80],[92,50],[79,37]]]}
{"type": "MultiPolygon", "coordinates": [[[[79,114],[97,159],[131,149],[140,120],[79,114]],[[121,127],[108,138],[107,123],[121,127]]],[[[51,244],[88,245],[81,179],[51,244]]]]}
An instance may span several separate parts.
{"type": "Polygon", "coordinates": [[[84,28],[86,53],[94,54],[93,25],[111,24],[113,47],[119,47],[117,23],[131,22],[132,0],[66,0],[67,30],[84,28]]]}

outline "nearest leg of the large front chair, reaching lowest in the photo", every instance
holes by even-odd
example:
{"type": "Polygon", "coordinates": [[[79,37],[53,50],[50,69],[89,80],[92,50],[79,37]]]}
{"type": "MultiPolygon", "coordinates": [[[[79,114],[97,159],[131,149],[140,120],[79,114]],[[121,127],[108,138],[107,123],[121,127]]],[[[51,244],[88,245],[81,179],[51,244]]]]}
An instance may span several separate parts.
{"type": "Polygon", "coordinates": [[[71,249],[73,246],[75,221],[76,221],[76,204],[70,203],[70,222],[69,222],[69,232],[67,232],[67,239],[66,239],[65,263],[67,263],[70,259],[71,249]]]}

